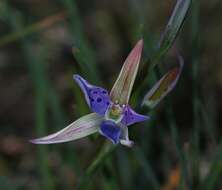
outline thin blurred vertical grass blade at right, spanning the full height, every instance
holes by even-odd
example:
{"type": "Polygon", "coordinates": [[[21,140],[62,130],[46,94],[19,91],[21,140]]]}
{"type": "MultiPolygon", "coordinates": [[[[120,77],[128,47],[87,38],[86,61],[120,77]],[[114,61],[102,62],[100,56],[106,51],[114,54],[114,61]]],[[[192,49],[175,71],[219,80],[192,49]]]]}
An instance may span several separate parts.
{"type": "Polygon", "coordinates": [[[201,82],[199,81],[199,57],[200,57],[200,39],[199,39],[199,23],[200,23],[200,2],[195,0],[192,2],[191,9],[191,34],[190,40],[192,42],[191,48],[191,72],[192,72],[192,111],[193,111],[193,127],[192,127],[192,139],[191,139],[191,170],[192,170],[192,184],[196,189],[200,184],[200,161],[201,161],[201,131],[202,125],[200,120],[201,110],[199,102],[201,102],[201,95],[199,93],[199,87],[201,82]]]}

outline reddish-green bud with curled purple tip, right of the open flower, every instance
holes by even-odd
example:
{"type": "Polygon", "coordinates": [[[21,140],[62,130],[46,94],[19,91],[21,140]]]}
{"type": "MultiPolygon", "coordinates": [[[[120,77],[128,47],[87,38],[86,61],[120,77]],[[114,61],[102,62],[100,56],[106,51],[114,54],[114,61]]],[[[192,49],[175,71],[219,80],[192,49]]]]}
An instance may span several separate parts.
{"type": "Polygon", "coordinates": [[[142,105],[154,108],[177,84],[183,68],[183,58],[179,56],[179,67],[165,74],[145,95],[142,105]]]}

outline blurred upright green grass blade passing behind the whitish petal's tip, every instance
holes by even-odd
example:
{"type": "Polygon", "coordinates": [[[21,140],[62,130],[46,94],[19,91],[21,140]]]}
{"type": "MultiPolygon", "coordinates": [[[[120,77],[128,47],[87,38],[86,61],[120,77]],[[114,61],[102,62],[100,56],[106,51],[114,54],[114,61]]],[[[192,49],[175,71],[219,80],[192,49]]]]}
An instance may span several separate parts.
{"type": "MultiPolygon", "coordinates": [[[[10,9],[9,9],[10,10],[10,9]]],[[[23,28],[22,15],[15,11],[10,10],[11,16],[9,19],[10,26],[15,31],[21,31],[23,28]]],[[[46,132],[46,78],[45,68],[43,64],[43,54],[34,54],[31,51],[31,43],[28,40],[22,42],[22,50],[26,55],[30,77],[32,78],[35,92],[35,122],[37,134],[42,135],[46,132]]],[[[47,147],[38,148],[38,164],[39,173],[42,177],[43,189],[54,189],[54,182],[52,180],[49,164],[48,164],[48,150],[47,147]]]]}

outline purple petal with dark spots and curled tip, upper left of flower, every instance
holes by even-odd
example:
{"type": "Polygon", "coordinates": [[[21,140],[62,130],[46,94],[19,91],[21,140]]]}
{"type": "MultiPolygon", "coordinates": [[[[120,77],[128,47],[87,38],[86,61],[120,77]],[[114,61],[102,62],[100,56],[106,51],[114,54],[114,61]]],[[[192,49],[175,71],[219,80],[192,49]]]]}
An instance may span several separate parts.
{"type": "Polygon", "coordinates": [[[90,109],[93,112],[104,115],[110,104],[107,90],[91,85],[79,75],[73,75],[73,78],[82,89],[90,109]]]}

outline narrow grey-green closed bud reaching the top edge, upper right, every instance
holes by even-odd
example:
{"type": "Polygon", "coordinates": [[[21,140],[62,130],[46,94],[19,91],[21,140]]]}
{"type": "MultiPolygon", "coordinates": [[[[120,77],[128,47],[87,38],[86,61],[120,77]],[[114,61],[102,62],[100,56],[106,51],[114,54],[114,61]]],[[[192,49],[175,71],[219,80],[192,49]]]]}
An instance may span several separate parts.
{"type": "Polygon", "coordinates": [[[167,26],[162,34],[160,43],[159,43],[159,56],[165,54],[168,49],[172,46],[174,40],[177,37],[177,34],[183,24],[185,16],[190,7],[191,0],[178,0],[173,13],[167,23],[167,26]]]}

